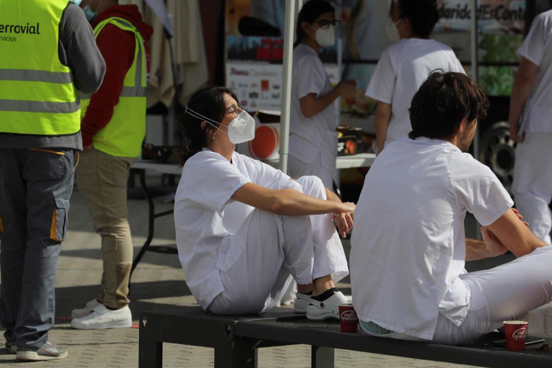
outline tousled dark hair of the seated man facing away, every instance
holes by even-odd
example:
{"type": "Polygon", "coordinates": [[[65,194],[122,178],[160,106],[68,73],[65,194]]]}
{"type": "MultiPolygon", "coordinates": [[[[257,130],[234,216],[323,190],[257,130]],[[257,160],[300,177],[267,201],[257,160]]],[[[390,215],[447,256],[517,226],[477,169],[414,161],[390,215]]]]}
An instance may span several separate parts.
{"type": "Polygon", "coordinates": [[[412,98],[408,136],[450,139],[464,118],[468,122],[483,119],[488,108],[485,92],[468,76],[433,71],[412,98]]]}

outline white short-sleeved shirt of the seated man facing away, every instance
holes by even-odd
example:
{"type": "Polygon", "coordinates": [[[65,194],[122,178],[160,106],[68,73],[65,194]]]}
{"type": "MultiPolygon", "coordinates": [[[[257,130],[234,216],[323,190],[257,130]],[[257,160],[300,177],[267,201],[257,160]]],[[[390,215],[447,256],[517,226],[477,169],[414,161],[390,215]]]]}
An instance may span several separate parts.
{"type": "Polygon", "coordinates": [[[431,340],[439,312],[468,313],[464,217],[490,225],[513,205],[491,169],[443,140],[395,141],[366,175],[354,212],[351,286],[360,320],[431,340]]]}

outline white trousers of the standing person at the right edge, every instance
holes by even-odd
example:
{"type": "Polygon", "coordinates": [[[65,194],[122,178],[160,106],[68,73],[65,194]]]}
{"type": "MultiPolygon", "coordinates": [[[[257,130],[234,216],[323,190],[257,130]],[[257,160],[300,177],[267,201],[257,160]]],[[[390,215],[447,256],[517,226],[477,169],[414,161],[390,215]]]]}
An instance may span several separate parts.
{"type": "Polygon", "coordinates": [[[516,147],[512,192],[530,230],[552,246],[552,133],[527,133],[516,147]]]}

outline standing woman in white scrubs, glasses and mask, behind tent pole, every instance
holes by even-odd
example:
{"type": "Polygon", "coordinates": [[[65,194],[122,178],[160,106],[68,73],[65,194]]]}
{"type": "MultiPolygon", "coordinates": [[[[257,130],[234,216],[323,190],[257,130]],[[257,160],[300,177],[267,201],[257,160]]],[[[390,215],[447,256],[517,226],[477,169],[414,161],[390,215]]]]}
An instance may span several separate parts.
{"type": "Polygon", "coordinates": [[[354,81],[341,81],[334,88],[319,52],[335,44],[339,20],[324,0],[310,0],[301,8],[293,50],[291,111],[289,126],[289,174],[315,175],[333,190],[337,157],[337,119],[333,103],[340,96],[354,97],[354,81]]]}

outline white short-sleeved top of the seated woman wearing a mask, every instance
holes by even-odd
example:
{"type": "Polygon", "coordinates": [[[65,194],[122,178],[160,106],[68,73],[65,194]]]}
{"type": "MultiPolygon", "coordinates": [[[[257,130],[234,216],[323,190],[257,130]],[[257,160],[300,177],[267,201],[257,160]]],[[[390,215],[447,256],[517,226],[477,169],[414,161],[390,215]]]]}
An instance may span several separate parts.
{"type": "Polygon", "coordinates": [[[245,247],[245,242],[229,247],[228,237],[254,210],[231,196],[246,183],[269,187],[287,179],[280,170],[237,152],[230,163],[204,149],[184,164],[174,199],[178,257],[186,284],[205,310],[224,291],[220,271],[229,270],[245,247]]]}

